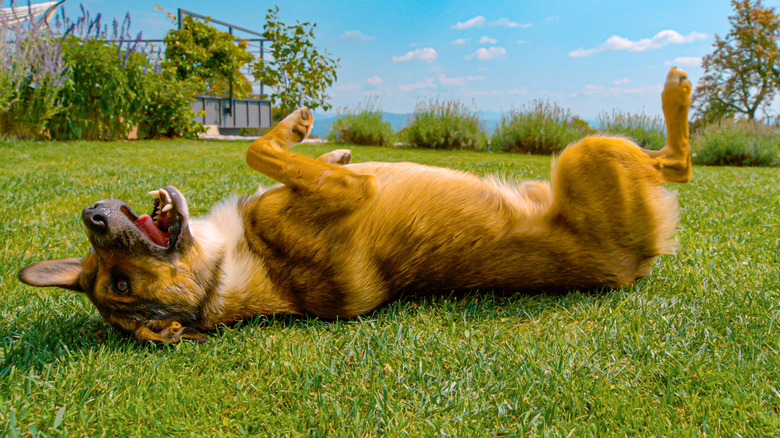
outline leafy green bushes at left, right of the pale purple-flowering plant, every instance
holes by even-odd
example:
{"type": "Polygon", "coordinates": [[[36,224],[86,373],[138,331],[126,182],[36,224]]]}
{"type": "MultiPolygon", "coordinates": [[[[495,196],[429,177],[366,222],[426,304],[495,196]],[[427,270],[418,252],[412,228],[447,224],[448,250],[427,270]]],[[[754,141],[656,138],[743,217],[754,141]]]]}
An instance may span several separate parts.
{"type": "Polygon", "coordinates": [[[194,137],[191,82],[157,69],[146,54],[122,53],[116,44],[70,37],[62,43],[69,80],[59,111],[48,123],[52,138],[116,140],[133,127],[141,138],[194,137]]]}

